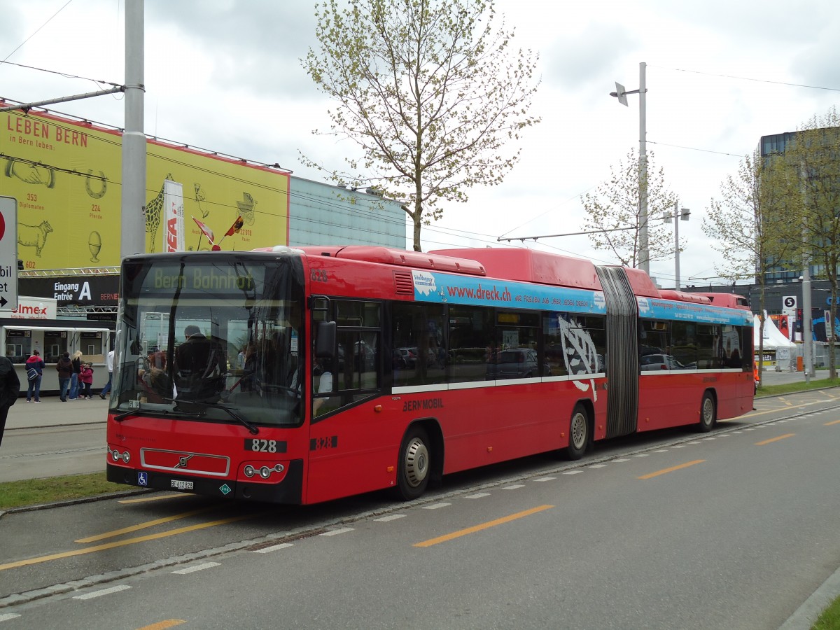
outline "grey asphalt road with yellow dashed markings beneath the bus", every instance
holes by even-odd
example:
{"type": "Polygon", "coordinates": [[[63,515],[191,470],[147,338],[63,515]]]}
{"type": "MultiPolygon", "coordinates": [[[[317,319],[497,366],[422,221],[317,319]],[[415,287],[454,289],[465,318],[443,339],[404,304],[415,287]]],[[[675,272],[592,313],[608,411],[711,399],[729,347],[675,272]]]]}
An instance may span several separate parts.
{"type": "Polygon", "coordinates": [[[153,493],[7,514],[0,621],[808,627],[822,606],[802,602],[830,597],[840,566],[826,527],[840,516],[837,394],[759,400],[710,435],[635,436],[580,463],[535,457],[451,475],[410,504],[153,493]]]}

